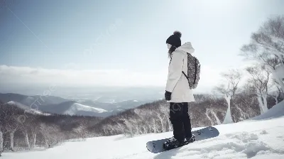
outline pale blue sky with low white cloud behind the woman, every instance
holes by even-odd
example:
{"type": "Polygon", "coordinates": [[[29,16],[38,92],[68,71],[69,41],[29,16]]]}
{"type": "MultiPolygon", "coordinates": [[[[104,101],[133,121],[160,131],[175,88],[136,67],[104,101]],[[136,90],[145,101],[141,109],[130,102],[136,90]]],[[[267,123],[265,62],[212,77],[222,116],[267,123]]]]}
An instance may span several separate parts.
{"type": "Polygon", "coordinates": [[[70,78],[70,84],[99,80],[96,84],[108,85],[112,77],[121,81],[114,85],[163,86],[169,62],[165,40],[178,30],[202,63],[201,84],[210,87],[219,72],[244,65],[239,48],[261,23],[284,13],[281,0],[14,0],[0,5],[0,85],[70,78]],[[109,75],[90,75],[98,70],[109,75]]]}

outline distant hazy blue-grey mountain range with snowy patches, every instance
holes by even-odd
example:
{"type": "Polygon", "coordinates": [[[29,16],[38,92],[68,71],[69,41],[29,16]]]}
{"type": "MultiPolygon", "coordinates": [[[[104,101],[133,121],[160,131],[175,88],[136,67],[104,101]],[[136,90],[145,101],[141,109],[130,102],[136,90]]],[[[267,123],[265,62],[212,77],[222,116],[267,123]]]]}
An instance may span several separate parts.
{"type": "Polygon", "coordinates": [[[65,99],[55,96],[26,96],[23,94],[0,94],[4,104],[18,106],[36,114],[70,114],[107,117],[126,109],[132,109],[152,101],[124,100],[121,102],[97,102],[91,99],[65,99]]]}

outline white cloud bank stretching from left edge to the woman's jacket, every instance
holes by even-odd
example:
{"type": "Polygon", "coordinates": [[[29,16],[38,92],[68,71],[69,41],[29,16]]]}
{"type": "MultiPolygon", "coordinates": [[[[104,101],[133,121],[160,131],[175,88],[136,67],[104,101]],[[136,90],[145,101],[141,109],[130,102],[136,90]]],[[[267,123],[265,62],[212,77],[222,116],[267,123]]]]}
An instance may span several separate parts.
{"type": "Polygon", "coordinates": [[[129,70],[58,70],[0,65],[0,84],[60,84],[62,86],[163,86],[166,72],[129,70]]]}

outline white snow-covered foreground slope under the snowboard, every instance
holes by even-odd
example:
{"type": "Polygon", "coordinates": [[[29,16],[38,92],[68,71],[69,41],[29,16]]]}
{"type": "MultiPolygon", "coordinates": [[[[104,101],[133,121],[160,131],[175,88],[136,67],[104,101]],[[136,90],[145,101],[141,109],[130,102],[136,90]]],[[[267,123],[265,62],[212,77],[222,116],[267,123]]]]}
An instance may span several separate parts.
{"type": "MultiPolygon", "coordinates": [[[[172,136],[151,133],[133,138],[119,136],[87,138],[69,141],[61,146],[22,153],[3,153],[4,159],[180,159],[180,158],[284,158],[284,101],[253,120],[215,126],[216,138],[190,143],[163,153],[150,153],[146,142],[172,136]]],[[[196,130],[198,128],[193,128],[196,130]]]]}

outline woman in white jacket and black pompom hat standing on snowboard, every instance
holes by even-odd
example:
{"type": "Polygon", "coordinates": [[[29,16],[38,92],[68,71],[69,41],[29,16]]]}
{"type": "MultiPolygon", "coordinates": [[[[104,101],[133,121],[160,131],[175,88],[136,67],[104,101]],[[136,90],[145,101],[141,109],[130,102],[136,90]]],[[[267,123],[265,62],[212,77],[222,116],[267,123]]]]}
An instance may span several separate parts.
{"type": "Polygon", "coordinates": [[[164,143],[165,149],[176,148],[183,143],[195,141],[188,114],[188,103],[195,102],[195,99],[187,78],[182,74],[182,71],[187,72],[187,53],[194,53],[195,49],[192,48],[190,42],[181,45],[181,35],[182,33],[175,31],[166,40],[170,64],[165,87],[165,100],[170,103],[173,137],[164,143]]]}

